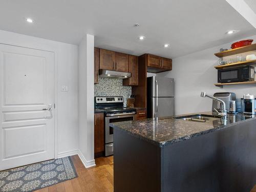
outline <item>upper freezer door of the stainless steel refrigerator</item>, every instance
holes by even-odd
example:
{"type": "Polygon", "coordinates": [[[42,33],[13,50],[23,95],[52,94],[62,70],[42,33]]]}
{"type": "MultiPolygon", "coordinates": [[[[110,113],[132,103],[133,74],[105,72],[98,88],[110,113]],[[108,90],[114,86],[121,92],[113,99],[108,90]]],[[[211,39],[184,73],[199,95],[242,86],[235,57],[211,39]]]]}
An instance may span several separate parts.
{"type": "Polygon", "coordinates": [[[152,97],[174,97],[174,78],[153,77],[152,97]]]}

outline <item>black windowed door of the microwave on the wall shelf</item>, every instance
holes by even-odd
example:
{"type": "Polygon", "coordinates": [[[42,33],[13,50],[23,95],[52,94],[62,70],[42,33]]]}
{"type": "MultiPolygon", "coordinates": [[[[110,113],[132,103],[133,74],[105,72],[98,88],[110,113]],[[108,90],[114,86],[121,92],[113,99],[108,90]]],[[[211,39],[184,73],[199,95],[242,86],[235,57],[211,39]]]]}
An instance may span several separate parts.
{"type": "Polygon", "coordinates": [[[242,81],[241,68],[221,69],[218,70],[218,82],[240,82],[242,81]]]}

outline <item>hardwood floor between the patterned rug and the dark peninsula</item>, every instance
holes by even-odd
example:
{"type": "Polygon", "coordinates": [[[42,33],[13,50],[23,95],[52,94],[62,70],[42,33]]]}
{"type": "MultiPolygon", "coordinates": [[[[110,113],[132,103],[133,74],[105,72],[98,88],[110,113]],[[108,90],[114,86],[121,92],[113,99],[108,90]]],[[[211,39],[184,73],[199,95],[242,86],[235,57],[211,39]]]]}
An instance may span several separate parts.
{"type": "Polygon", "coordinates": [[[77,155],[71,156],[78,177],[36,192],[110,192],[114,191],[113,156],[95,159],[96,166],[85,168],[77,155]]]}

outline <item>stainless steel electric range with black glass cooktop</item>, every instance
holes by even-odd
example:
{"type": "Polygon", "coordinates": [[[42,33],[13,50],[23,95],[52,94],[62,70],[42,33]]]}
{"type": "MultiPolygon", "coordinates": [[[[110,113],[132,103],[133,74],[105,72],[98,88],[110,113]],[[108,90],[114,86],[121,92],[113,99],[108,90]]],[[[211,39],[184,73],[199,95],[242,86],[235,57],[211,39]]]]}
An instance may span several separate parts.
{"type": "Polygon", "coordinates": [[[125,108],[123,97],[95,97],[94,104],[95,109],[105,111],[105,156],[113,155],[113,127],[110,123],[134,120],[136,109],[125,108]]]}

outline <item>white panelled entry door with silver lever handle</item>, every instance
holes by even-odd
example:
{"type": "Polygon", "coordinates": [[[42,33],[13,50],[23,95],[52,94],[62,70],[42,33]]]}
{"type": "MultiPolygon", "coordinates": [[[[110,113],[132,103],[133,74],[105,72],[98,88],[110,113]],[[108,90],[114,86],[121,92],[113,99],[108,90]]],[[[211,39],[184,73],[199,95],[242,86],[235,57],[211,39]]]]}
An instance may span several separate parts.
{"type": "Polygon", "coordinates": [[[0,44],[0,102],[0,170],[54,159],[54,53],[0,44]]]}

